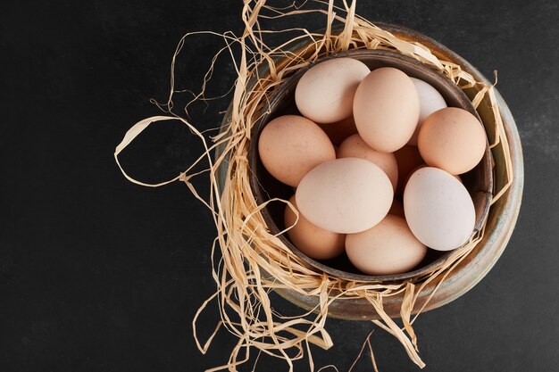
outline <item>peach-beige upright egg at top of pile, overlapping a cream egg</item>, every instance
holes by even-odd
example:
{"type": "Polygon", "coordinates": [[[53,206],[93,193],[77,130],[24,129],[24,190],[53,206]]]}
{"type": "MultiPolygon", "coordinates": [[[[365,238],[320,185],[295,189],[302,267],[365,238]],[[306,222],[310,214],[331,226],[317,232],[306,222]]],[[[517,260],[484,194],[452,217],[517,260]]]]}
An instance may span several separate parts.
{"type": "Polygon", "coordinates": [[[401,70],[372,70],[355,91],[357,131],[367,145],[382,153],[393,153],[410,140],[419,114],[417,90],[401,70]]]}

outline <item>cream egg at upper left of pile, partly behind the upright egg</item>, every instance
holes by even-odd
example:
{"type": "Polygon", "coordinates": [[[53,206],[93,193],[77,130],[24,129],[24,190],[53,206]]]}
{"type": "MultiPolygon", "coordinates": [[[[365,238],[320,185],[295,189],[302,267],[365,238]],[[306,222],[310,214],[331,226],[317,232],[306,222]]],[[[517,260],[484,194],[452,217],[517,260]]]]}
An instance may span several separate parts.
{"type": "Polygon", "coordinates": [[[297,109],[319,123],[333,123],[351,116],[355,89],[370,72],[353,58],[335,58],[311,67],[295,89],[297,109]]]}

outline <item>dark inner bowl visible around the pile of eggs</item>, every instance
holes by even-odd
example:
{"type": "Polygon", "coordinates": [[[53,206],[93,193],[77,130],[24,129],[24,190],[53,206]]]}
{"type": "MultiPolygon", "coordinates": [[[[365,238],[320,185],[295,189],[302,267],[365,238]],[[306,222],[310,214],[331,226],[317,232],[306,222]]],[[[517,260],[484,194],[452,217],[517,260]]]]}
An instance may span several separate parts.
{"type": "MultiPolygon", "coordinates": [[[[471,105],[471,101],[453,81],[443,76],[437,70],[431,69],[429,66],[410,57],[389,51],[355,50],[346,53],[332,54],[321,58],[315,63],[338,57],[355,58],[365,63],[371,70],[375,70],[380,67],[395,67],[396,69],[403,70],[408,76],[426,81],[431,86],[435,87],[438,92],[443,95],[449,107],[463,108],[464,110],[471,112],[480,120],[478,113],[471,105]]],[[[297,111],[295,104],[295,88],[298,80],[310,67],[312,66],[307,66],[304,69],[297,70],[281,85],[281,87],[278,87],[278,89],[271,95],[269,103],[264,109],[264,112],[266,113],[264,113],[261,119],[254,124],[254,128],[252,129],[249,149],[251,188],[256,202],[259,204],[274,197],[287,200],[295,194],[295,191],[291,186],[284,185],[277,179],[271,177],[270,173],[263,167],[263,163],[260,161],[260,157],[258,155],[258,139],[263,128],[266,124],[268,124],[268,122],[270,122],[270,120],[281,115],[300,114],[297,111]]],[[[470,192],[476,208],[476,225],[474,228],[475,234],[475,232],[483,226],[488,217],[489,205],[492,198],[493,178],[491,170],[491,153],[488,145],[480,163],[468,173],[461,175],[461,178],[463,179],[464,186],[466,186],[470,192]]],[[[285,203],[269,203],[267,207],[263,209],[263,219],[266,221],[266,224],[270,228],[272,234],[278,234],[285,228],[283,221],[284,210],[285,203]]],[[[355,269],[355,267],[347,259],[346,254],[342,254],[332,260],[313,260],[312,258],[306,256],[305,253],[299,251],[296,246],[289,241],[287,234],[281,235],[280,240],[283,244],[286,244],[292,252],[294,252],[302,260],[305,260],[305,262],[313,268],[320,269],[336,277],[360,281],[389,282],[416,277],[436,268],[438,265],[443,263],[451,253],[438,252],[430,249],[428,250],[428,254],[425,259],[409,272],[389,276],[371,276],[365,275],[358,269],[355,269]]]]}

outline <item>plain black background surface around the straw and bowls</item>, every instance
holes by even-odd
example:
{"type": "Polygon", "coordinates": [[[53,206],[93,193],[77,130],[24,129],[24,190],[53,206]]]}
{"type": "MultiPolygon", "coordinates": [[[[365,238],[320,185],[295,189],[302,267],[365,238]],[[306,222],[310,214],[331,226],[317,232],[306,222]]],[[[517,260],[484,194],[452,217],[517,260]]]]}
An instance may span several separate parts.
{"type": "MultiPolygon", "coordinates": [[[[219,0],[3,4],[0,371],[187,371],[229,357],[229,334],[221,332],[204,356],[190,325],[214,289],[209,212],[179,183],[130,184],[113,150],[133,123],[159,113],[148,99],[166,100],[179,38],[195,30],[239,33],[241,8],[239,1],[219,0]]],[[[425,370],[554,370],[557,3],[361,1],[357,12],[417,29],[488,77],[498,70],[498,89],[521,133],[526,181],[511,242],[479,285],[416,322],[425,370]]],[[[319,28],[323,21],[316,16],[306,25],[319,28]]],[[[221,45],[219,37],[190,38],[179,86],[197,90],[221,45]]],[[[223,61],[213,79],[216,93],[235,77],[223,61]]],[[[226,105],[212,103],[205,114],[196,106],[196,124],[215,128],[226,105]]],[[[162,123],[122,161],[133,176],[154,181],[185,169],[200,150],[187,128],[162,123]]],[[[277,310],[295,311],[277,296],[273,301],[277,310]]],[[[216,319],[213,310],[201,318],[203,338],[216,319]]],[[[335,346],[317,350],[315,365],[347,370],[373,327],[331,319],[328,329],[335,346]]],[[[381,371],[419,370],[383,331],[374,331],[371,343],[381,371]]],[[[264,357],[259,366],[287,370],[264,357]]],[[[307,369],[296,363],[296,370],[307,369]]],[[[355,370],[371,370],[370,361],[363,357],[355,370]]]]}

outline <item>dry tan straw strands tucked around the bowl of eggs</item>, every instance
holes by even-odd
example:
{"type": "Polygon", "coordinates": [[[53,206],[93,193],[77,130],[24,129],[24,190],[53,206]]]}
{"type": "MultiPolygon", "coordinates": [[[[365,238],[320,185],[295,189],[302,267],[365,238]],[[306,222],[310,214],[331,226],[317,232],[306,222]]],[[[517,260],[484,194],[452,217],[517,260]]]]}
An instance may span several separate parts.
{"type": "MultiPolygon", "coordinates": [[[[456,250],[449,260],[427,275],[389,285],[332,277],[309,268],[305,262],[290,252],[280,242],[278,236],[271,235],[261,214],[267,203],[288,203],[288,201],[272,199],[257,205],[250,188],[247,153],[251,128],[263,114],[270,95],[293,71],[305,67],[324,55],[363,48],[390,50],[426,63],[452,79],[457,86],[463,89],[475,89],[478,93],[472,99],[474,107],[486,101],[492,108],[493,117],[491,120],[485,120],[484,125],[488,137],[494,139],[490,145],[492,151],[502,153],[505,158],[505,172],[508,178],[508,183],[494,190],[494,203],[506,192],[513,180],[505,128],[496,103],[494,86],[475,81],[455,63],[439,60],[426,46],[395,37],[370,21],[364,20],[355,14],[355,4],[355,1],[352,4],[346,4],[344,1],[342,7],[337,7],[333,0],[330,2],[319,0],[307,2],[304,8],[291,5],[279,9],[266,4],[265,0],[245,0],[242,11],[245,30],[241,36],[237,37],[229,32],[222,35],[207,32],[225,40],[221,52],[230,53],[238,73],[233,87],[233,100],[229,107],[230,121],[218,136],[211,138],[204,136],[204,133],[190,123],[184,114],[173,111],[175,61],[186,38],[193,34],[185,35],[180,40],[172,59],[169,100],[165,104],[158,104],[165,114],[138,122],[129,129],[115,150],[115,160],[121,167],[119,153],[142,130],[161,120],[179,120],[187,125],[204,145],[204,153],[190,168],[166,182],[142,183],[129,177],[122,168],[121,170],[131,182],[143,186],[163,186],[173,181],[182,181],[212,212],[217,228],[217,236],[212,246],[212,274],[216,291],[196,312],[193,320],[194,336],[199,350],[203,353],[208,350],[214,335],[221,327],[225,327],[238,337],[238,343],[231,351],[229,360],[223,366],[212,370],[237,370],[238,365],[250,360],[251,355],[254,356],[254,352],[251,351],[256,351],[258,355],[264,352],[286,360],[289,370],[293,369],[294,360],[302,359],[306,354],[313,370],[310,344],[323,349],[328,349],[333,344],[326,329],[330,303],[355,298],[362,298],[371,303],[371,311],[376,311],[380,316],[380,319],[375,320],[374,323],[394,335],[403,344],[410,359],[422,368],[425,364],[418,354],[417,339],[412,327],[413,321],[423,309],[414,310],[415,315],[412,317],[417,295],[431,280],[435,278],[444,280],[483,236],[484,229],[481,229],[479,234],[471,238],[469,244],[456,250]],[[301,14],[313,17],[321,15],[325,21],[324,32],[310,32],[305,28],[280,30],[261,28],[261,22],[264,20],[267,22],[276,20],[275,22],[280,24],[282,18],[301,14]],[[332,29],[337,27],[342,31],[333,32],[332,29]],[[294,33],[296,36],[280,45],[267,44],[268,38],[285,32],[294,33]],[[296,52],[289,50],[289,45],[303,41],[306,42],[304,48],[296,52]],[[234,57],[233,46],[240,47],[240,58],[234,57]],[[261,76],[259,71],[263,70],[268,72],[261,76]],[[218,156],[214,158],[216,149],[219,149],[218,156]],[[204,161],[207,161],[207,169],[196,173],[191,171],[196,164],[204,161]],[[218,182],[218,170],[221,167],[226,169],[225,183],[222,186],[218,182]],[[209,175],[210,197],[207,200],[197,193],[190,182],[193,177],[201,173],[209,175]],[[316,296],[319,299],[319,306],[297,317],[284,317],[272,310],[271,306],[270,293],[279,288],[316,296]],[[395,319],[389,318],[382,307],[383,298],[397,293],[404,293],[400,311],[401,325],[398,325],[395,319]],[[207,341],[201,343],[196,333],[196,319],[206,306],[213,306],[215,303],[219,307],[221,320],[207,341]]],[[[204,87],[212,72],[213,63],[204,79],[204,87]]],[[[204,87],[195,99],[204,98],[204,87]]],[[[442,283],[442,280],[439,283],[442,283]]],[[[363,347],[364,344],[368,344],[371,348],[368,339],[363,343],[363,347]]],[[[372,364],[376,369],[374,359],[372,364]]]]}

